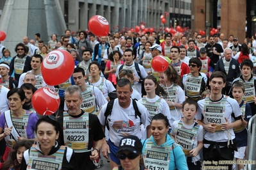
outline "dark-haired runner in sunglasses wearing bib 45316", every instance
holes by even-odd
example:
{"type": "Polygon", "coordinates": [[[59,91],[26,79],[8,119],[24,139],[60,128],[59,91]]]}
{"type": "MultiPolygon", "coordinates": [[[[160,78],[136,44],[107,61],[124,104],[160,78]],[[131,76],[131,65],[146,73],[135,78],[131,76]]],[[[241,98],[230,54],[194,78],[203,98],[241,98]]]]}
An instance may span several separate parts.
{"type": "Polygon", "coordinates": [[[201,73],[201,60],[191,58],[189,60],[190,73],[183,75],[182,83],[186,98],[200,100],[201,93],[209,87],[209,79],[205,73],[201,73]]]}

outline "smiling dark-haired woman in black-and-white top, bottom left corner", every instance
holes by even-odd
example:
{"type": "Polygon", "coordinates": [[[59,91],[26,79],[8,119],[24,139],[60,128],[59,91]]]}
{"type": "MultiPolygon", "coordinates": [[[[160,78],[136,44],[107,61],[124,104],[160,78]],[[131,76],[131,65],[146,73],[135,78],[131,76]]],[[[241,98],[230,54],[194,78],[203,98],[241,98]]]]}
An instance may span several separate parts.
{"type": "Polygon", "coordinates": [[[74,151],[56,141],[60,126],[55,116],[42,116],[35,130],[38,142],[24,152],[21,169],[78,169],[74,151]]]}

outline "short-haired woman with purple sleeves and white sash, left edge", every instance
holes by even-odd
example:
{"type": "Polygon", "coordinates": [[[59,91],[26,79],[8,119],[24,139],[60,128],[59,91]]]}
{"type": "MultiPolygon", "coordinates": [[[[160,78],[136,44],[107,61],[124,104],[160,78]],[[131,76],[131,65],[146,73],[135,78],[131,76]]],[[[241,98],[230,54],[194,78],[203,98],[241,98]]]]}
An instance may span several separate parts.
{"type": "Polygon", "coordinates": [[[33,139],[35,137],[35,124],[38,117],[35,112],[22,109],[26,102],[23,89],[10,89],[7,93],[10,110],[2,112],[0,116],[0,140],[6,141],[3,160],[7,160],[8,153],[17,141],[33,139]],[[2,132],[4,133],[2,134],[2,132]]]}

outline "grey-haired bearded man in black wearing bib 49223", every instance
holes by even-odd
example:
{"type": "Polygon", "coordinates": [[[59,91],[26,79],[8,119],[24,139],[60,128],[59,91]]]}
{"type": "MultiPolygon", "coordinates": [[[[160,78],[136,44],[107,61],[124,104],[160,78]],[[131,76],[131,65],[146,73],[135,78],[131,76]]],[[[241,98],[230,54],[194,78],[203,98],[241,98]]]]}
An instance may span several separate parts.
{"type": "Polygon", "coordinates": [[[98,117],[80,109],[81,93],[81,89],[74,85],[65,90],[67,112],[63,113],[63,120],[58,119],[63,127],[60,139],[62,144],[74,150],[80,167],[92,170],[96,168],[93,161],[99,157],[98,151],[103,143],[107,143],[98,117]]]}

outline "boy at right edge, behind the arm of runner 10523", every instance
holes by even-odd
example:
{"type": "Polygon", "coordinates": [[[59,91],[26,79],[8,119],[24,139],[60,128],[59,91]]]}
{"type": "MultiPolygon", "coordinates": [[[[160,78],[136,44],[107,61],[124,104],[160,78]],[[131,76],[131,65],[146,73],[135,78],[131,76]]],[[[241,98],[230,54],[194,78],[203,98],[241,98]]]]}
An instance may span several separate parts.
{"type": "MultiPolygon", "coordinates": [[[[232,95],[237,103],[239,104],[240,110],[242,112],[242,125],[240,127],[234,128],[235,132],[235,144],[237,146],[237,151],[234,153],[236,160],[243,160],[244,153],[247,147],[247,123],[252,117],[252,111],[250,105],[245,102],[242,98],[244,96],[244,84],[242,82],[235,82],[232,86],[232,95]]],[[[238,170],[244,169],[243,164],[237,164],[238,170]]]]}

